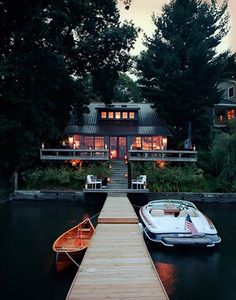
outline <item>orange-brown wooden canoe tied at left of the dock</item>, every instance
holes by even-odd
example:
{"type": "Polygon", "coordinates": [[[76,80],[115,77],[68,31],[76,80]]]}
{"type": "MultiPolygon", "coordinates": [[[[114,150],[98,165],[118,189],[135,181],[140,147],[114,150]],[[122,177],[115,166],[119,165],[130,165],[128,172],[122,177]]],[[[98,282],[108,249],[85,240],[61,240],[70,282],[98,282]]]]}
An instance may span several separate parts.
{"type": "Polygon", "coordinates": [[[72,259],[84,253],[93,233],[94,226],[87,218],[55,240],[52,249],[56,252],[56,269],[58,272],[71,266],[73,264],[72,259]]]}

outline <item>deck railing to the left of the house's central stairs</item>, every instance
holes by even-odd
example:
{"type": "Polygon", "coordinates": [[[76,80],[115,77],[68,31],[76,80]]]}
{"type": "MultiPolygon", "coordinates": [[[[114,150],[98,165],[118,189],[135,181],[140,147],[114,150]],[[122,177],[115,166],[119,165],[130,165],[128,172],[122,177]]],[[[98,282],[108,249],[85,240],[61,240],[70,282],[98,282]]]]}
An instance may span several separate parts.
{"type": "Polygon", "coordinates": [[[108,160],[107,149],[40,149],[41,160],[108,160]]]}

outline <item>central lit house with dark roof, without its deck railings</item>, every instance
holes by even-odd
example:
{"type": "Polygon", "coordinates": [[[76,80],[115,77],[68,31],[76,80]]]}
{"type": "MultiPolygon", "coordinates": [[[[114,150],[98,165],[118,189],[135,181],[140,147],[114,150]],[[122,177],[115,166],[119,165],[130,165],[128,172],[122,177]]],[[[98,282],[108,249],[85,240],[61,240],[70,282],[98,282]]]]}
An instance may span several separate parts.
{"type": "Polygon", "coordinates": [[[64,132],[74,149],[108,149],[112,159],[124,159],[128,150],[167,150],[170,132],[147,103],[91,103],[82,125],[69,125],[64,132]]]}

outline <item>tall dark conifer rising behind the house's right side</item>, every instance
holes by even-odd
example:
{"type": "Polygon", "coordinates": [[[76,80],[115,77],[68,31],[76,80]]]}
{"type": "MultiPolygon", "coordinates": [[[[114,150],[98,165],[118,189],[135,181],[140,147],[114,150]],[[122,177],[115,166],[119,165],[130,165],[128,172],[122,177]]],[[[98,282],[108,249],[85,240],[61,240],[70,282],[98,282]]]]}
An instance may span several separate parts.
{"type": "Polygon", "coordinates": [[[228,31],[227,3],[172,0],[153,21],[155,33],[146,37],[147,50],[138,59],[143,95],[182,139],[191,122],[194,143],[207,145],[211,108],[229,55],[217,54],[228,31]]]}

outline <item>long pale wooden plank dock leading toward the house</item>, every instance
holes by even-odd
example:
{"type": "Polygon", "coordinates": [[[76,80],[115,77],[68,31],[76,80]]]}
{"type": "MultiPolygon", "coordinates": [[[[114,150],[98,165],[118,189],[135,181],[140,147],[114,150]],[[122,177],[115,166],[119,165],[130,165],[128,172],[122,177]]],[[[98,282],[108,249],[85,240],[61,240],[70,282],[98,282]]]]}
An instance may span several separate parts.
{"type": "Polygon", "coordinates": [[[168,299],[126,196],[108,196],[66,299],[168,299]]]}

